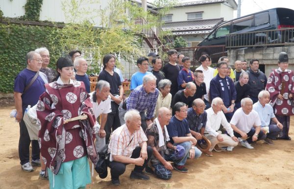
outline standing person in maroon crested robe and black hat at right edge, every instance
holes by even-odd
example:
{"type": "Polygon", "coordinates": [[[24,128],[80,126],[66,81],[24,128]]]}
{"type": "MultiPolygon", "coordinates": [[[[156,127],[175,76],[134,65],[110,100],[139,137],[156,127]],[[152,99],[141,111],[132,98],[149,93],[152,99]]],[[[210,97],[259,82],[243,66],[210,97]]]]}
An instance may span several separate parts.
{"type": "Polygon", "coordinates": [[[288,61],[288,54],[281,52],[278,60],[279,68],[270,73],[266,89],[270,92],[270,103],[273,106],[274,114],[283,124],[279,139],[290,141],[290,116],[294,115],[294,74],[293,71],[288,70],[288,61]]]}

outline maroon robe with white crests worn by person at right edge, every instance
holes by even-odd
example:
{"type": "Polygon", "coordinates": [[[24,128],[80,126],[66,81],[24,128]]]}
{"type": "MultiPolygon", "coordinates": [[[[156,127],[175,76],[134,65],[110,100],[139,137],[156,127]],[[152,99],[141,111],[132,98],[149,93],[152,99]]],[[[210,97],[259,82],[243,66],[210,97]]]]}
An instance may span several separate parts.
{"type": "Polygon", "coordinates": [[[271,71],[268,79],[267,91],[270,92],[270,103],[273,106],[274,114],[277,116],[293,116],[294,108],[289,94],[294,94],[294,73],[286,69],[282,71],[280,68],[271,71]],[[278,94],[282,94],[284,99],[277,98],[278,94]]]}

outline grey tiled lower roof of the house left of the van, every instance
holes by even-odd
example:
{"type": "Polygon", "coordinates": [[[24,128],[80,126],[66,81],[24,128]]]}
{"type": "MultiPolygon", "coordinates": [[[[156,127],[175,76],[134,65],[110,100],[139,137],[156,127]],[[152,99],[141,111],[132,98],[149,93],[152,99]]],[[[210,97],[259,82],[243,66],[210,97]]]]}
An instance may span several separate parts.
{"type": "Polygon", "coordinates": [[[206,34],[211,32],[217,25],[221,24],[222,21],[223,18],[173,23],[167,22],[162,26],[162,30],[170,30],[174,35],[206,34]]]}

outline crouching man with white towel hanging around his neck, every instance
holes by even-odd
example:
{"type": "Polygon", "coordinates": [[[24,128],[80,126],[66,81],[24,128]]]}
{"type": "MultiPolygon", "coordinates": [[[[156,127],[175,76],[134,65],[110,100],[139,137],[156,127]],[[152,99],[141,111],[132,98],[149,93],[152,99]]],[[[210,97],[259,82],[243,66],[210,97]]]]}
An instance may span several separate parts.
{"type": "Polygon", "coordinates": [[[166,125],[170,123],[172,113],[170,109],[161,107],[158,117],[148,126],[146,131],[147,144],[153,148],[151,164],[155,168],[157,177],[168,180],[172,177],[172,165],[168,161],[179,162],[185,152],[184,147],[174,146],[170,141],[166,125]]]}

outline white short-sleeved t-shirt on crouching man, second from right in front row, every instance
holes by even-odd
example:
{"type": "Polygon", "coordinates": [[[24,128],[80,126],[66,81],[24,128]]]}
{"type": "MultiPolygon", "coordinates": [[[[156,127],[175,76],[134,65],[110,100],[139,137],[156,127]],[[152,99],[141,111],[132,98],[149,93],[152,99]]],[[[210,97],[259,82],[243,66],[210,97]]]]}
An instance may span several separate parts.
{"type": "Polygon", "coordinates": [[[248,133],[253,126],[261,125],[260,118],[255,110],[246,115],[242,108],[234,113],[230,123],[245,133],[248,133]]]}

